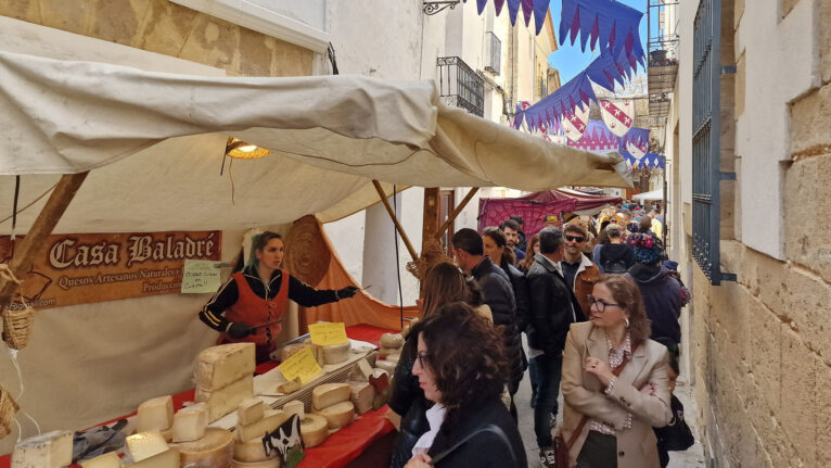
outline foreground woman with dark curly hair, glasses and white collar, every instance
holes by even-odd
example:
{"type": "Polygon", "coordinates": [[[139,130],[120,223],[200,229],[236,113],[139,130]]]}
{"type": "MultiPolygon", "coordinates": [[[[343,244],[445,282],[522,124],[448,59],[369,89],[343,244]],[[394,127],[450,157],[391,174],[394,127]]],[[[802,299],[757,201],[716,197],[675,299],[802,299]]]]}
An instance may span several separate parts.
{"type": "Polygon", "coordinates": [[[525,468],[520,431],[500,400],[508,375],[501,336],[455,302],[426,318],[416,339],[412,375],[433,405],[430,430],[405,468],[525,468]]]}

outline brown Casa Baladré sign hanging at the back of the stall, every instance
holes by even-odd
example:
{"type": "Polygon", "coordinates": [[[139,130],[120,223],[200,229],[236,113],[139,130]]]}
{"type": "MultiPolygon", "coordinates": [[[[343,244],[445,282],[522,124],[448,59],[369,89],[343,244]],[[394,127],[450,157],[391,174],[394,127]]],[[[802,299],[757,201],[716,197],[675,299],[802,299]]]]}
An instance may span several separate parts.
{"type": "MultiPolygon", "coordinates": [[[[21,238],[0,236],[0,263],[21,238]]],[[[21,292],[35,308],[179,293],[184,261],[218,262],[221,244],[221,231],[50,236],[21,278],[21,292]]]]}

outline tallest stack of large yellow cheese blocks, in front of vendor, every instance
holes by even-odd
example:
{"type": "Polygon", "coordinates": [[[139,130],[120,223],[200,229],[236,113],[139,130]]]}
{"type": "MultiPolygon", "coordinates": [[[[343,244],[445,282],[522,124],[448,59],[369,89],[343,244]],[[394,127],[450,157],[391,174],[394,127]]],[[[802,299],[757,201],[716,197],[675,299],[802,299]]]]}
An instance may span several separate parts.
{"type": "Polygon", "coordinates": [[[208,347],[196,357],[194,377],[197,402],[205,402],[213,422],[254,395],[254,343],[208,347]]]}

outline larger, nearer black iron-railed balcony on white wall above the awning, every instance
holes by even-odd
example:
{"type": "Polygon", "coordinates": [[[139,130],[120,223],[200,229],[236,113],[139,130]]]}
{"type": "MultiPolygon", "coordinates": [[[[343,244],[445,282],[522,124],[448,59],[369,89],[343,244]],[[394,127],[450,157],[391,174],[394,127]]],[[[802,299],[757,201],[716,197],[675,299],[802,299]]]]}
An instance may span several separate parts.
{"type": "Polygon", "coordinates": [[[473,115],[485,115],[485,80],[458,56],[439,56],[438,91],[442,102],[473,115]]]}

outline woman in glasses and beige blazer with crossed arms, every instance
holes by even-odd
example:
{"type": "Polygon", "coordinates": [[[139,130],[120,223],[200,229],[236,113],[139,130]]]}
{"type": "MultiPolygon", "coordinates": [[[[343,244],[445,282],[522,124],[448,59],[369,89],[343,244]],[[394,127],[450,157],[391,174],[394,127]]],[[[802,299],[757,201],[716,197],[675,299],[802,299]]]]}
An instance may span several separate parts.
{"type": "Polygon", "coordinates": [[[589,321],[572,325],[563,351],[568,466],[657,468],[652,427],[672,418],[666,346],[649,339],[649,319],[630,278],[601,277],[589,303],[589,321]]]}

